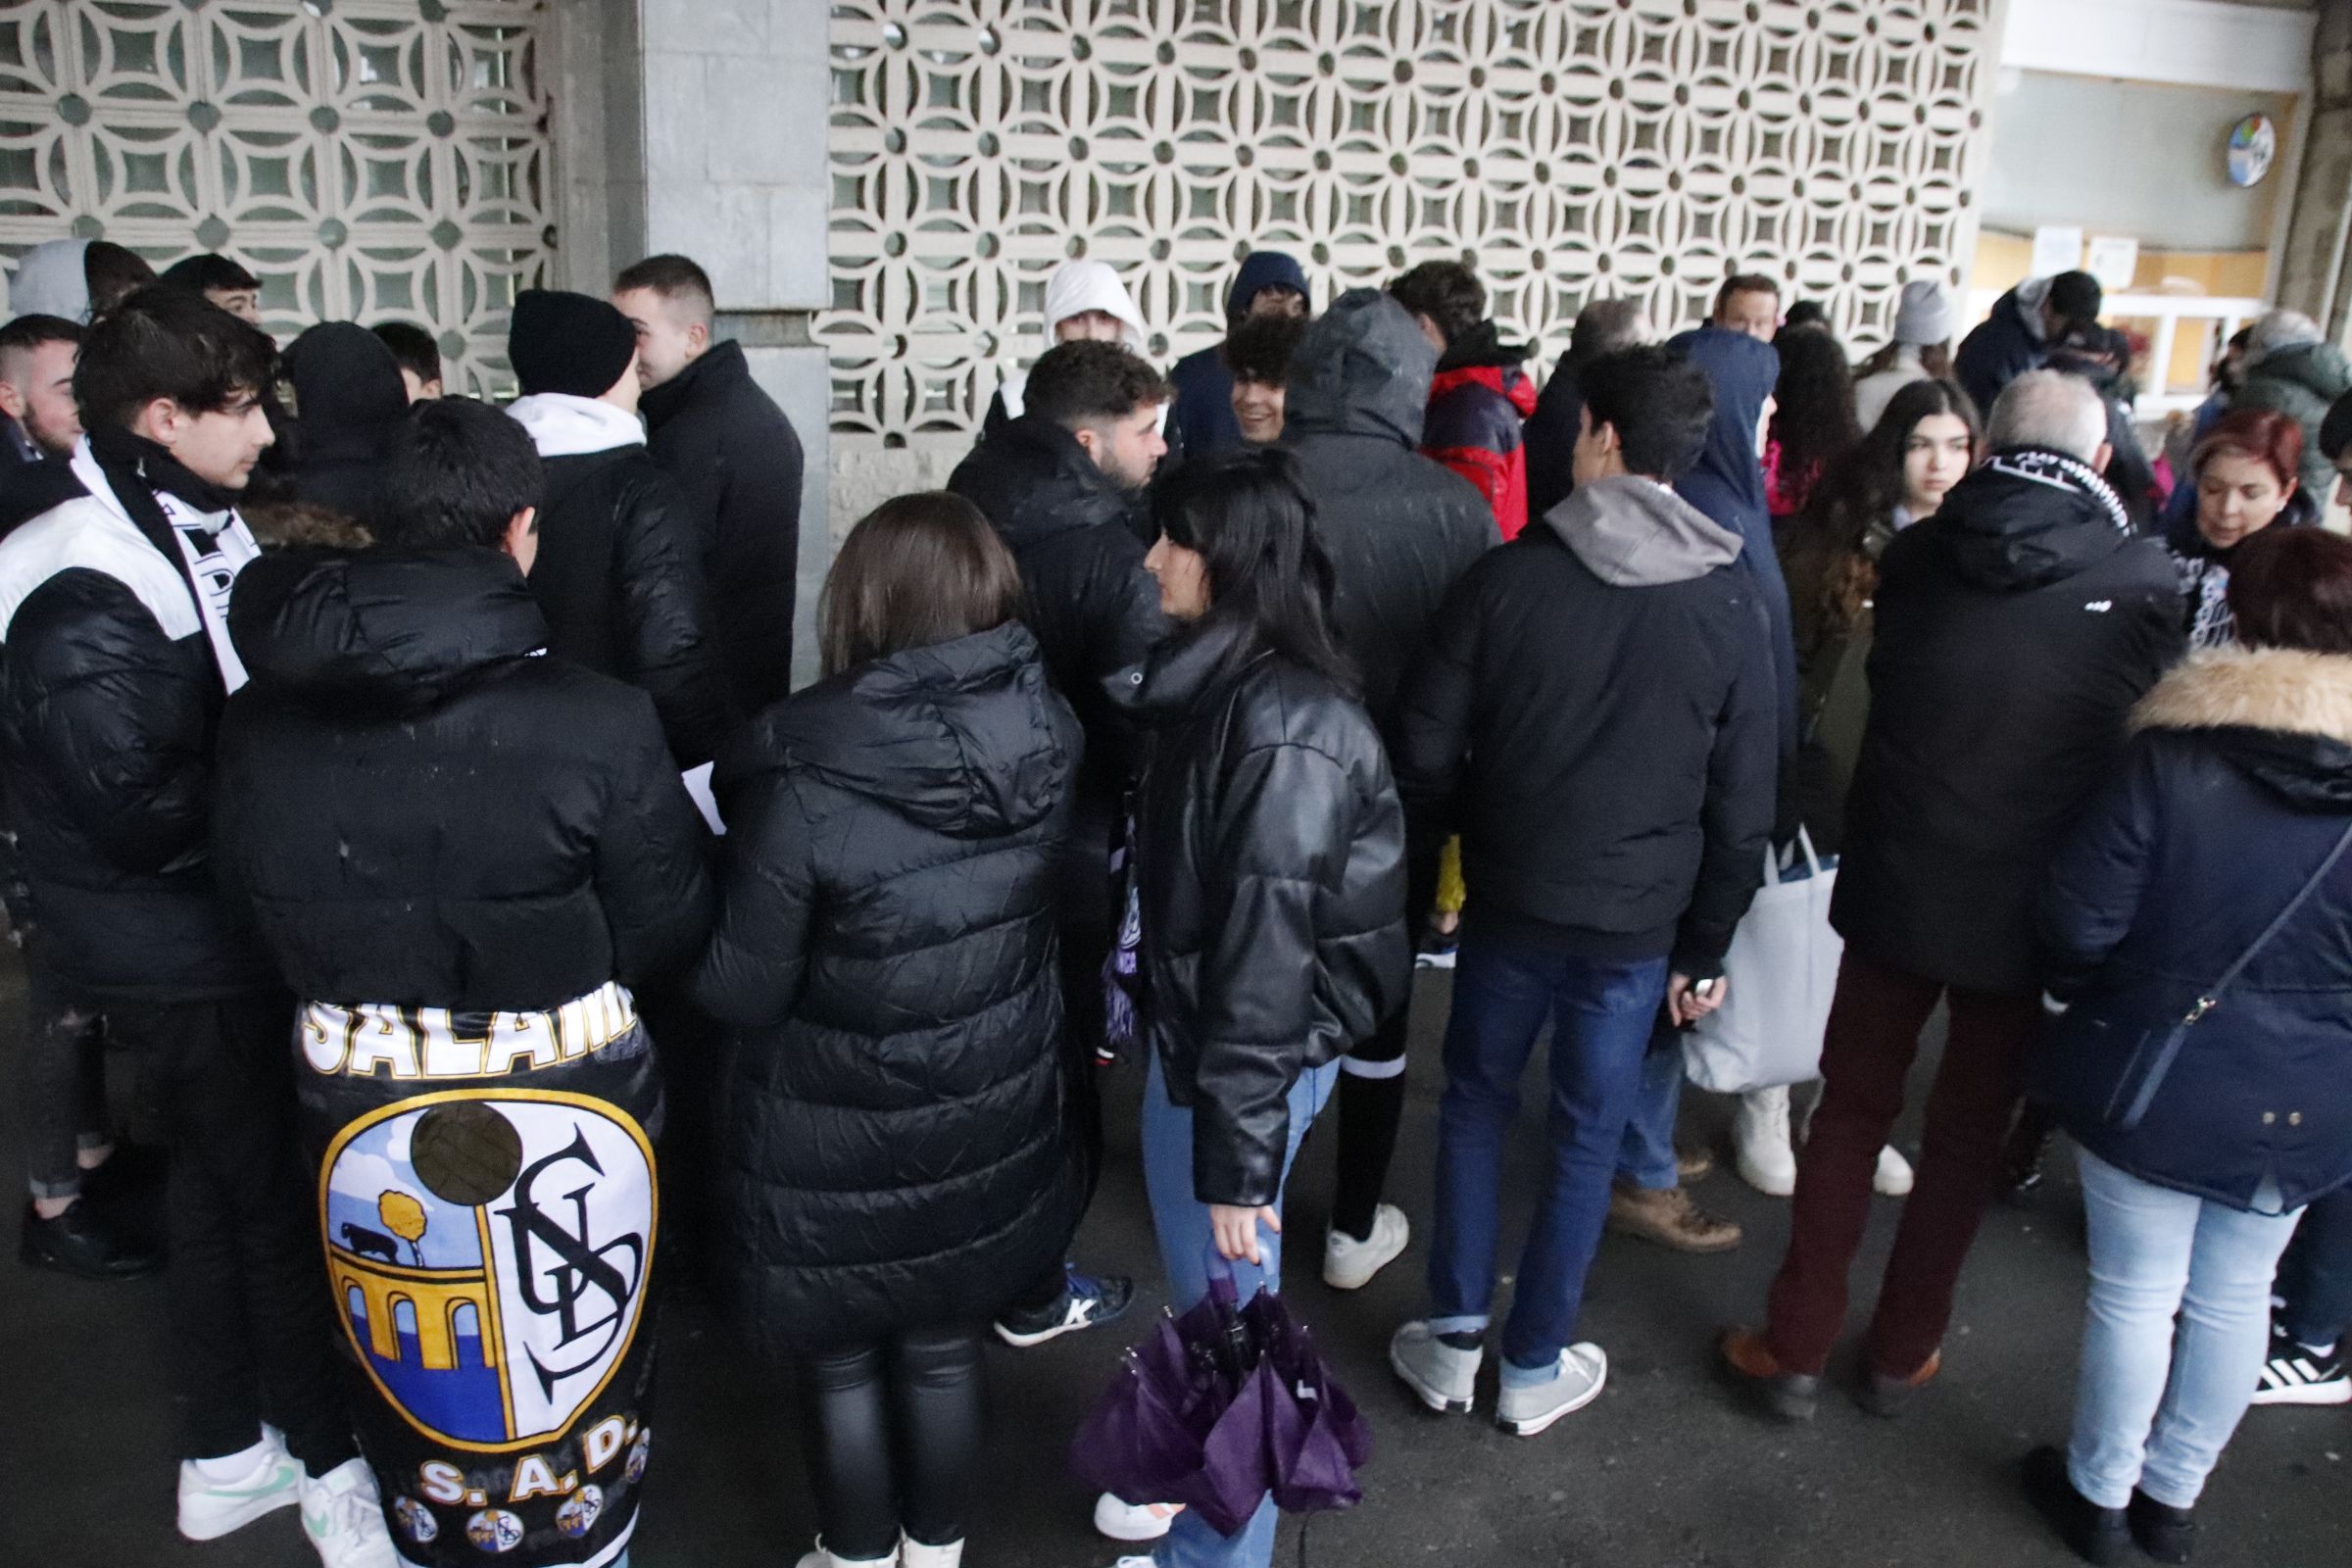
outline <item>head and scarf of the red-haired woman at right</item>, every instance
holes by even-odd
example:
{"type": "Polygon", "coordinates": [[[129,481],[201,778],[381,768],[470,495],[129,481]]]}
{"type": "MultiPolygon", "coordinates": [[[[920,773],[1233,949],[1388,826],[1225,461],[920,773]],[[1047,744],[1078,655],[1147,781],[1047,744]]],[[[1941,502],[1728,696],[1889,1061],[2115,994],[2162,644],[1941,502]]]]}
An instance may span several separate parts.
{"type": "Polygon", "coordinates": [[[2213,423],[2190,456],[2197,512],[2166,541],[2180,562],[2190,649],[2237,642],[2230,616],[2230,557],[2274,522],[2317,522],[2317,496],[2296,487],[2303,425],[2272,409],[2237,409],[2213,423]]]}

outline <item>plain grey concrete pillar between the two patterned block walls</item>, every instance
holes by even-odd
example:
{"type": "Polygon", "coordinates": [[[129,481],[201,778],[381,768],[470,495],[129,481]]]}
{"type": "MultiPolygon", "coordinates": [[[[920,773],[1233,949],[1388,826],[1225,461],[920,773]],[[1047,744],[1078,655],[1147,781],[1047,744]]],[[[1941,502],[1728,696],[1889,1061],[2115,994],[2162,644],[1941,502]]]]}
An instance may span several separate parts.
{"type": "Polygon", "coordinates": [[[814,675],[830,386],[826,0],[567,0],[555,16],[562,287],[602,294],[647,254],[694,256],[807,451],[795,672],[814,675]]]}

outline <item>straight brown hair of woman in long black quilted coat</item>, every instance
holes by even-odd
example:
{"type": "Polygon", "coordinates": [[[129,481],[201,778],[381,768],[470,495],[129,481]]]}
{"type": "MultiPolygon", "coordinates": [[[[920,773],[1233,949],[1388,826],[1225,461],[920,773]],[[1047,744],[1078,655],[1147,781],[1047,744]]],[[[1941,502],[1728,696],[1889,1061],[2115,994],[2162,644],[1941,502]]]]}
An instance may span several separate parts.
{"type": "Polygon", "coordinates": [[[1021,567],[981,508],[948,491],[894,496],[849,529],[816,618],[826,675],[1021,614],[1021,567]]]}

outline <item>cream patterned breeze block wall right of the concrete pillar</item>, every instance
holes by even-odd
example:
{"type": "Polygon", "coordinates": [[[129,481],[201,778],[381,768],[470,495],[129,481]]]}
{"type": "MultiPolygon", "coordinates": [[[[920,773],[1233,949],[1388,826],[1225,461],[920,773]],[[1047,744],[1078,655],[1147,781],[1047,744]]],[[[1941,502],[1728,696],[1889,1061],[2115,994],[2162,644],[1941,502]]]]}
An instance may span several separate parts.
{"type": "Polygon", "coordinates": [[[1167,362],[1251,247],[1317,303],[1463,256],[1545,360],[1729,270],[1877,341],[1973,237],[1990,0],[835,0],[835,451],[938,447],[1098,256],[1167,362]]]}

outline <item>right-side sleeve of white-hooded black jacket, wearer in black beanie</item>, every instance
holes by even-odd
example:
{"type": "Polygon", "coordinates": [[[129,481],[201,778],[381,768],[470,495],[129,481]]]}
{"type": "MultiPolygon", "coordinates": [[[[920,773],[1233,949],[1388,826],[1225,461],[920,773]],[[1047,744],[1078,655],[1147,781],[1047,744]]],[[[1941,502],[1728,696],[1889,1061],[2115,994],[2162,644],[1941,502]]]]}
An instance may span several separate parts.
{"type": "Polygon", "coordinates": [[[710,762],[731,724],[701,538],[694,508],[673,477],[649,468],[630,482],[614,545],[614,611],[628,661],[621,675],[654,696],[680,769],[710,762]]]}

